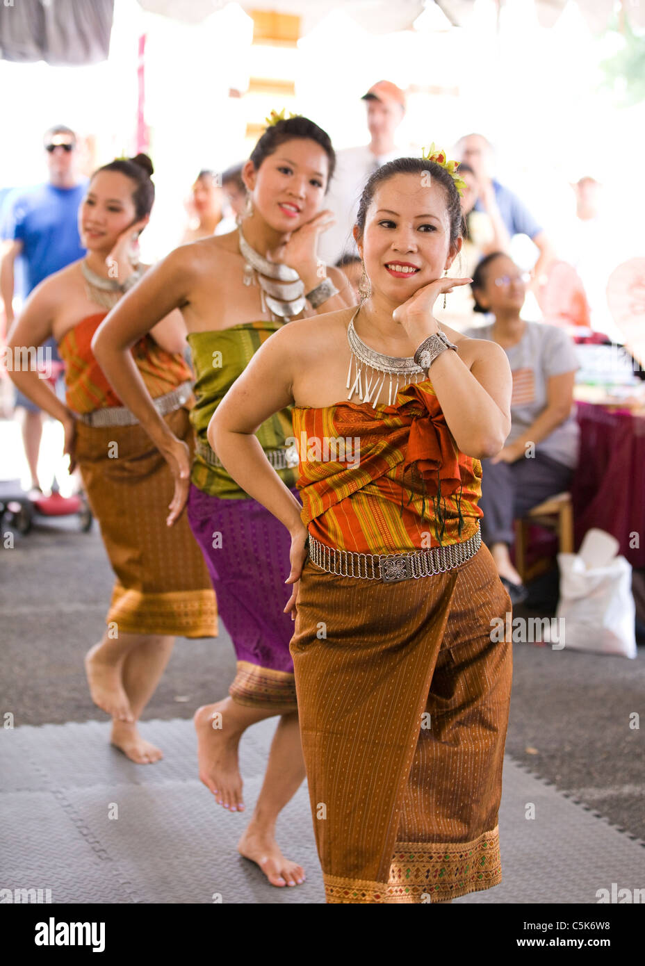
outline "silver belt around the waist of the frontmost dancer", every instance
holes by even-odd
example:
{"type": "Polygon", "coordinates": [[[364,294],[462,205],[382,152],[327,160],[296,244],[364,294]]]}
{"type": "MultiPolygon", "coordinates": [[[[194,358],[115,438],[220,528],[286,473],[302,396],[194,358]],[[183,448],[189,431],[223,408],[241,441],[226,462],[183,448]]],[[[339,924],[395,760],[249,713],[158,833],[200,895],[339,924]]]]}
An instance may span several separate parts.
{"type": "Polygon", "coordinates": [[[368,581],[407,581],[410,578],[432,577],[459,567],[474,556],[482,545],[482,532],[477,530],[463,543],[447,547],[430,547],[411,554],[354,554],[351,551],[326,547],[309,536],[311,562],[321,570],[338,577],[360,577],[368,581]]]}

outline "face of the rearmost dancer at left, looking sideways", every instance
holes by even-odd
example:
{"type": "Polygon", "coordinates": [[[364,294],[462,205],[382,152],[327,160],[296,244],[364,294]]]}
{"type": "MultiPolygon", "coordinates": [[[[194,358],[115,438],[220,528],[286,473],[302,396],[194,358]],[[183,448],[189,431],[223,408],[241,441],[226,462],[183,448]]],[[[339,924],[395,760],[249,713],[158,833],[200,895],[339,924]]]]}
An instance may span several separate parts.
{"type": "Polygon", "coordinates": [[[78,231],[85,248],[111,250],[136,220],[134,186],[119,171],[99,171],[94,176],[78,209],[78,231]]]}

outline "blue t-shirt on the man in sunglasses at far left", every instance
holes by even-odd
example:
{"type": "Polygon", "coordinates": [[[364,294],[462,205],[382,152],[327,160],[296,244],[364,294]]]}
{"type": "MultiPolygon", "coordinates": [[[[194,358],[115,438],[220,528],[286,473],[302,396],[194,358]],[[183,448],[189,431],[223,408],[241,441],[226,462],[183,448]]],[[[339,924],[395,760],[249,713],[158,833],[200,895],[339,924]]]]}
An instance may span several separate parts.
{"type": "Polygon", "coordinates": [[[82,258],[78,237],[78,206],[87,181],[73,187],[44,184],[15,188],[4,199],[0,216],[3,241],[22,241],[23,297],[54,271],[82,258]]]}

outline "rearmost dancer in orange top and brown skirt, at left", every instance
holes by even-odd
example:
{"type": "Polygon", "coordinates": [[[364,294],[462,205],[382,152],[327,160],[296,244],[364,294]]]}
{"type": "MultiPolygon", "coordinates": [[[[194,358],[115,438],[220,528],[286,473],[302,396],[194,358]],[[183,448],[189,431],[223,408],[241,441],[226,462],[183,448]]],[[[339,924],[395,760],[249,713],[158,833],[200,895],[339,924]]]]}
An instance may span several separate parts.
{"type": "MultiPolygon", "coordinates": [[[[148,435],[122,405],[91,349],[92,338],[145,267],[128,257],[154,201],[150,158],[104,165],[79,209],[84,259],[56,272],[25,303],[10,345],[38,347],[51,335],[66,365],[67,405],[36,371],[13,372],[20,390],[65,428],[116,574],[103,638],[86,657],[92,697],[112,717],[111,741],[133,761],[162,754],[137,721],[154,694],[175,637],[217,633],[215,599],[185,517],[166,524],[173,477],[148,435]]],[[[191,373],[182,357],[182,317],[171,313],[132,350],[139,377],[172,432],[192,444],[186,404],[191,373]]]]}

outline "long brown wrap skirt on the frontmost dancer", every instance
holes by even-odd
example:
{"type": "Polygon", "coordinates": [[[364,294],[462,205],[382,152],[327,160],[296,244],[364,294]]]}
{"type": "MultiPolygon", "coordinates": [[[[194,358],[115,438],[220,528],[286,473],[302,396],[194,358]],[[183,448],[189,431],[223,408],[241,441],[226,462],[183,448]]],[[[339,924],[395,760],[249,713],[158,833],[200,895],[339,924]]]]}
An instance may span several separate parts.
{"type": "Polygon", "coordinates": [[[485,545],[392,583],[307,560],[291,652],[327,902],[440,902],[501,881],[512,652],[491,621],[510,611],[485,545]]]}

